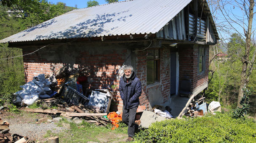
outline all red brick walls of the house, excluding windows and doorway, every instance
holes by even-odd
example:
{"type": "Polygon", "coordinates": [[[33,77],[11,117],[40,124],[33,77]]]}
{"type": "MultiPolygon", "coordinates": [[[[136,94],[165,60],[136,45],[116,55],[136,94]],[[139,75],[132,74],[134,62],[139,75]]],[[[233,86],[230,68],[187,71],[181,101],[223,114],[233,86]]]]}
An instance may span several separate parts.
{"type": "MultiPolygon", "coordinates": [[[[200,45],[199,45],[200,46],[200,45]]],[[[180,62],[180,79],[185,75],[191,79],[193,90],[207,82],[208,80],[208,61],[209,48],[206,48],[206,70],[202,74],[198,74],[198,48],[195,45],[179,46],[179,62],[180,62]]],[[[24,67],[26,82],[33,79],[38,74],[53,74],[57,71],[69,69],[76,71],[85,68],[87,70],[88,85],[93,89],[105,88],[113,82],[113,85],[119,85],[119,80],[115,79],[117,70],[123,65],[123,62],[130,54],[125,45],[68,45],[68,46],[52,46],[44,48],[36,53],[24,56],[24,67]]],[[[35,48],[23,48],[23,54],[30,53],[35,48]]],[[[170,49],[161,48],[161,66],[160,66],[160,82],[147,86],[147,65],[146,50],[137,51],[136,66],[137,77],[142,82],[142,95],[139,97],[140,104],[147,108],[150,106],[150,97],[159,98],[161,104],[168,103],[170,98],[170,49]],[[159,90],[159,95],[149,93],[149,90],[159,90]]],[[[114,95],[112,101],[112,111],[122,111],[123,101],[119,92],[114,95]]]]}

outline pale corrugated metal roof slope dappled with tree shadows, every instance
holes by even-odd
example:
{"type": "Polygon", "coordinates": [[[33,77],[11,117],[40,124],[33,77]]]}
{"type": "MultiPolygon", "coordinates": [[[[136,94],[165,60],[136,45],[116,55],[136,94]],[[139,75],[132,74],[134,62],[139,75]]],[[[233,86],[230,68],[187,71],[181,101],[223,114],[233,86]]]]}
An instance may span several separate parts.
{"type": "Polygon", "coordinates": [[[127,0],[76,9],[0,42],[156,33],[190,2],[127,0]]]}

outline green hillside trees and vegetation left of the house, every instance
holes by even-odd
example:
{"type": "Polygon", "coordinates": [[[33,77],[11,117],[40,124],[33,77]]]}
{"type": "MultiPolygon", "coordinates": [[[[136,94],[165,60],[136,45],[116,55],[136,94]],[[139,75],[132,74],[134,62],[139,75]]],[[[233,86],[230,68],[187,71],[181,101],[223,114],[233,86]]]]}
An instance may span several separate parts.
{"type": "MultiPolygon", "coordinates": [[[[0,2],[0,40],[76,9],[65,6],[65,3],[53,5],[47,1],[31,5],[30,9],[27,8],[29,5],[25,5],[24,8],[27,11],[16,12],[9,16],[8,10],[19,11],[19,8],[8,8],[0,2]]],[[[25,84],[23,57],[20,55],[22,55],[22,49],[8,48],[8,44],[0,44],[0,59],[3,59],[0,60],[0,104],[11,100],[12,94],[20,90],[20,85],[25,84]],[[14,56],[19,57],[11,58],[14,56]]]]}

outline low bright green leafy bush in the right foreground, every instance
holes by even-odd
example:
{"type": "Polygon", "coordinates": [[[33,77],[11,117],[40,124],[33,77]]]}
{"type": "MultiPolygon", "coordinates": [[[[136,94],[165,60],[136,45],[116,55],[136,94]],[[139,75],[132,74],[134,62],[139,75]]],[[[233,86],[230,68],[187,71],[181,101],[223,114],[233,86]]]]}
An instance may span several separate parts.
{"type": "Polygon", "coordinates": [[[135,135],[138,143],[255,143],[256,122],[231,113],[153,123],[135,135]]]}

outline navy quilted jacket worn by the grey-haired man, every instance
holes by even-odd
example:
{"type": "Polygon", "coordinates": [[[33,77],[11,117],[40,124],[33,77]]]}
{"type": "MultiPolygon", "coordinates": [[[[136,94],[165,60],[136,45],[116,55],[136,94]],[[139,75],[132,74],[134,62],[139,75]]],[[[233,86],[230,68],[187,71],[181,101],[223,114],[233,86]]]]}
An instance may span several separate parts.
{"type": "Polygon", "coordinates": [[[119,82],[119,92],[123,100],[125,109],[131,109],[139,106],[139,96],[142,94],[142,84],[133,72],[130,80],[127,82],[125,74],[119,82]]]}

